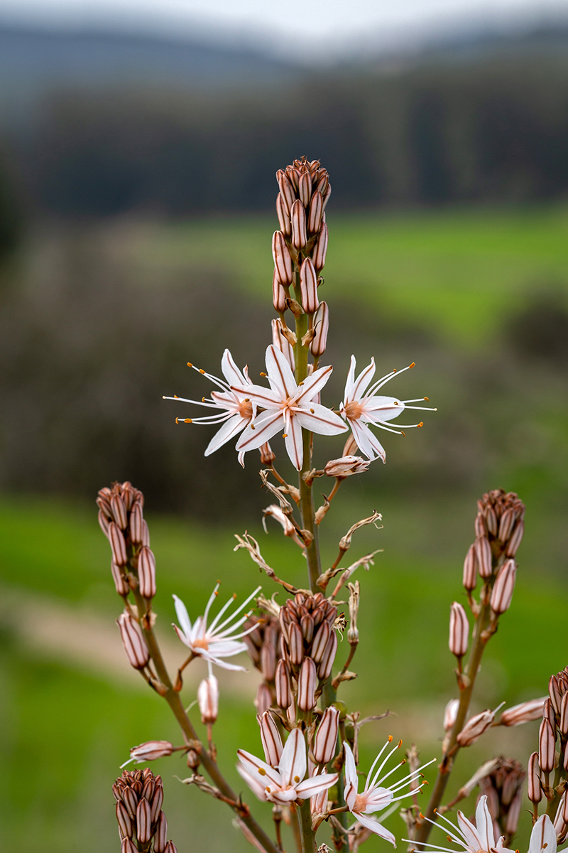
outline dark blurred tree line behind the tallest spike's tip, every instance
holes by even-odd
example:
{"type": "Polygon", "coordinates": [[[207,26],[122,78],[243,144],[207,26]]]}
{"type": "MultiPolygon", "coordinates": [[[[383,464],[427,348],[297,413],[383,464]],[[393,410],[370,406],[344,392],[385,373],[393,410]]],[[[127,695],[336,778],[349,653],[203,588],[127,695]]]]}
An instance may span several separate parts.
{"type": "Polygon", "coordinates": [[[38,212],[267,209],[298,153],[337,207],[526,201],[568,191],[568,55],[321,73],[240,95],[68,90],[11,143],[38,212]]]}

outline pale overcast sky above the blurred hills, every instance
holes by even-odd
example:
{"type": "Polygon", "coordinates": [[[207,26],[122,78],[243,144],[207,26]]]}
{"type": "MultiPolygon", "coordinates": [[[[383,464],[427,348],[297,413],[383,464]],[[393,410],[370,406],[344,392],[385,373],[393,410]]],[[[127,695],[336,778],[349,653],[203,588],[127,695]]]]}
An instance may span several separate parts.
{"type": "Polygon", "coordinates": [[[0,0],[4,20],[197,32],[304,56],[338,55],[424,29],[525,26],[559,12],[568,17],[568,0],[0,0]]]}

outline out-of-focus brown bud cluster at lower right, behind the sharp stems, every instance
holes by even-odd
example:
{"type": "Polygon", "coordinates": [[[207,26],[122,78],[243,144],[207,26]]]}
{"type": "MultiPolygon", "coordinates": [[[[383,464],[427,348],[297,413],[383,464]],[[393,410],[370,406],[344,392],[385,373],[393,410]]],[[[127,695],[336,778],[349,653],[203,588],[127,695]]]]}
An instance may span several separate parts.
{"type": "Polygon", "coordinates": [[[485,795],[487,798],[495,837],[504,835],[507,843],[519,825],[525,775],[519,761],[500,756],[491,773],[479,780],[479,797],[485,795]]]}

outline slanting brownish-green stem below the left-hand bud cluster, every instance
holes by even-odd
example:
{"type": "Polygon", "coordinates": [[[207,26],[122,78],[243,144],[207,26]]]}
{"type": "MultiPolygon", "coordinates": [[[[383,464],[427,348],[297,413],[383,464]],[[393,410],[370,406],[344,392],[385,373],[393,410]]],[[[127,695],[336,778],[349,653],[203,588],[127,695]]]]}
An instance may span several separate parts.
{"type": "MultiPolygon", "coordinates": [[[[138,612],[146,612],[146,602],[137,590],[135,590],[135,600],[136,605],[138,606],[138,612]]],[[[186,742],[189,742],[190,740],[197,741],[200,747],[199,760],[203,764],[206,773],[214,782],[215,786],[219,788],[223,796],[235,803],[233,811],[238,814],[241,821],[243,821],[243,823],[250,829],[250,832],[255,836],[256,840],[262,845],[262,847],[264,847],[267,853],[279,853],[278,848],[267,836],[267,833],[265,833],[265,831],[256,823],[255,819],[251,817],[248,806],[238,800],[237,794],[232,791],[231,786],[221,774],[221,770],[217,766],[217,763],[201,743],[195,728],[193,728],[191,720],[187,717],[183,703],[181,702],[180,693],[174,690],[174,686],[169,678],[168,670],[164,664],[164,658],[162,657],[160,647],[158,646],[156,635],[149,625],[146,626],[145,618],[141,618],[141,628],[144,631],[144,636],[146,637],[146,645],[150,652],[152,662],[156,667],[156,674],[158,675],[160,682],[164,684],[164,688],[167,688],[167,692],[164,694],[164,699],[173,711],[175,719],[180,724],[180,728],[185,736],[186,742]]]]}

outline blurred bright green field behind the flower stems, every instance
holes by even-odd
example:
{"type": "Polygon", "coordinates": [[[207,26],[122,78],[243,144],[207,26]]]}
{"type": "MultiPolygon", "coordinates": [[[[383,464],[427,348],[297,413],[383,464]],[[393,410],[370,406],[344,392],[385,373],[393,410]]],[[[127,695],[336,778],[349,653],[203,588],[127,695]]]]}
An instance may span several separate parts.
{"type": "MultiPolygon", "coordinates": [[[[436,353],[427,357],[420,380],[426,375],[428,393],[438,394],[441,409],[428,423],[429,432],[435,434],[444,417],[456,415],[460,407],[464,417],[478,418],[476,428],[498,436],[485,458],[478,458],[478,445],[466,449],[473,456],[473,470],[479,468],[482,489],[502,485],[518,490],[527,503],[513,606],[491,641],[479,676],[476,710],[502,699],[513,704],[542,695],[548,676],[568,663],[562,639],[568,618],[565,373],[555,374],[546,365],[527,372],[507,368],[485,408],[478,407],[476,398],[469,412],[461,374],[457,369],[452,373],[451,365],[453,359],[456,364],[472,360],[477,365],[476,358],[496,351],[499,369],[495,333],[502,328],[503,317],[522,308],[534,287],[554,286],[565,298],[568,208],[334,214],[329,221],[333,239],[325,269],[326,299],[331,303],[341,299],[342,305],[347,297],[357,299],[377,322],[386,317],[395,329],[398,323],[414,324],[439,340],[444,357],[436,353]],[[440,364],[443,370],[438,369],[440,364]]],[[[142,284],[159,283],[172,270],[183,274],[214,269],[235,287],[266,298],[272,278],[273,227],[269,218],[123,223],[109,240],[120,263],[142,284]]],[[[488,375],[488,371],[480,375],[480,386],[491,385],[488,375]]],[[[384,548],[370,573],[360,577],[361,643],[353,663],[359,678],[343,688],[352,710],[368,714],[390,709],[398,714],[364,729],[367,760],[391,733],[415,740],[426,759],[438,754],[441,713],[455,692],[447,617],[451,601],[463,601],[462,560],[473,538],[479,496],[465,476],[463,484],[453,480],[445,489],[439,483],[434,489],[433,481],[421,475],[413,489],[411,454],[426,456],[430,445],[416,432],[414,444],[409,444],[410,438],[407,443],[393,438],[385,469],[375,479],[348,482],[342,489],[345,498],[333,505],[323,530],[324,564],[329,565],[337,540],[353,521],[373,509],[383,514],[382,530],[361,532],[349,554],[354,560],[367,550],[384,548]],[[410,489],[401,494],[396,488],[389,490],[389,484],[395,485],[403,464],[410,489]]],[[[450,444],[447,432],[440,441],[450,444]]],[[[131,479],[135,482],[135,471],[131,479]]],[[[242,530],[152,514],[151,495],[146,496],[146,506],[158,561],[158,628],[170,644],[172,593],[181,595],[195,615],[217,578],[227,595],[233,590],[247,595],[256,583],[262,583],[266,594],[273,592],[242,552],[232,553],[232,535],[242,530]]],[[[258,518],[251,518],[247,526],[278,573],[304,583],[297,548],[284,542],[276,528],[266,536],[258,518]]],[[[111,792],[118,765],[129,747],[142,740],[179,740],[167,707],[132,680],[125,662],[112,664],[107,673],[101,664],[109,643],[114,642],[122,654],[113,627],[119,600],[109,563],[94,504],[33,496],[4,496],[0,501],[0,811],[3,849],[10,853],[118,850],[111,792]],[[76,632],[74,652],[65,653],[65,642],[58,644],[56,630],[42,633],[42,608],[45,623],[52,628],[60,618],[65,642],[66,630],[76,632]],[[100,643],[93,633],[97,625],[100,643]]],[[[340,647],[339,660],[341,654],[340,647]]],[[[238,746],[251,751],[260,746],[253,722],[254,685],[248,676],[240,688],[234,679],[225,682],[222,674],[220,682],[221,717],[215,737],[222,746],[227,775],[242,789],[234,753],[238,746]]],[[[187,704],[193,698],[187,688],[187,704]]],[[[195,711],[192,715],[198,719],[195,711]]],[[[535,746],[536,724],[497,729],[464,754],[451,789],[488,753],[503,751],[525,761],[535,746]]],[[[164,776],[164,808],[180,853],[221,853],[227,846],[248,849],[232,830],[227,809],[175,780],[175,775],[186,775],[178,758],[157,762],[156,768],[164,776]]],[[[402,833],[395,815],[389,826],[402,833]]],[[[519,834],[521,847],[525,837],[526,827],[519,834]]],[[[385,843],[372,839],[368,847],[384,849],[385,843]]]]}

